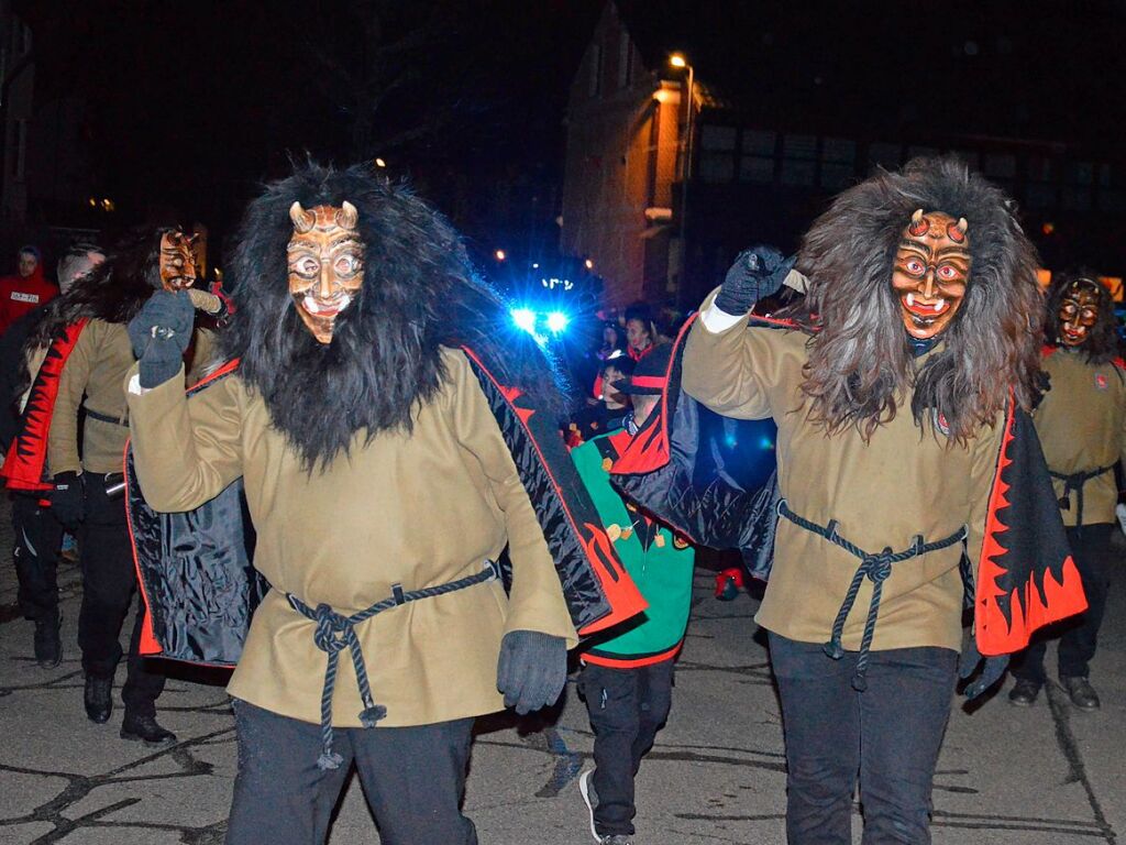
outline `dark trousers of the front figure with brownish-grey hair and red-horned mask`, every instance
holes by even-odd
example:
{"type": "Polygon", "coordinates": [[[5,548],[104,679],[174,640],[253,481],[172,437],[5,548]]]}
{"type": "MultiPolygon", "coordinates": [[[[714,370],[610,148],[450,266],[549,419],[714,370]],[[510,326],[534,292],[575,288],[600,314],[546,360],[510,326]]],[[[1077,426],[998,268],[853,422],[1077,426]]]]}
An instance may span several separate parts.
{"type": "Polygon", "coordinates": [[[770,634],[786,737],[789,845],[849,845],[857,772],[864,844],[930,843],[931,783],[950,714],[951,649],[873,651],[868,688],[851,681],[857,652],[770,634]]]}

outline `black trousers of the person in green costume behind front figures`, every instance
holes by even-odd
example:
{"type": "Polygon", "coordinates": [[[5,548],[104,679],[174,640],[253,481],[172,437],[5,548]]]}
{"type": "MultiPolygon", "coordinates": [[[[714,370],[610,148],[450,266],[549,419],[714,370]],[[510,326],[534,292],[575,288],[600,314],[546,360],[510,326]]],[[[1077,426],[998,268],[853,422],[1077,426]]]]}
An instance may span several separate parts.
{"type": "Polygon", "coordinates": [[[587,664],[580,685],[595,731],[595,829],[634,833],[634,776],[669,718],[674,660],[632,669],[587,664]]]}

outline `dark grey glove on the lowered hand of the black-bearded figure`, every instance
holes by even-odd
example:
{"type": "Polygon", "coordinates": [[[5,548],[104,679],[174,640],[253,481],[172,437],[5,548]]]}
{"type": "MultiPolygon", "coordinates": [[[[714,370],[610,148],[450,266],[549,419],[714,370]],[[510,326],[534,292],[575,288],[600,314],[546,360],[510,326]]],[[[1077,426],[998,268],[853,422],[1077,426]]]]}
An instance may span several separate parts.
{"type": "Polygon", "coordinates": [[[566,640],[539,631],[509,631],[500,642],[497,688],[520,715],[555,703],[566,683],[566,640]]]}

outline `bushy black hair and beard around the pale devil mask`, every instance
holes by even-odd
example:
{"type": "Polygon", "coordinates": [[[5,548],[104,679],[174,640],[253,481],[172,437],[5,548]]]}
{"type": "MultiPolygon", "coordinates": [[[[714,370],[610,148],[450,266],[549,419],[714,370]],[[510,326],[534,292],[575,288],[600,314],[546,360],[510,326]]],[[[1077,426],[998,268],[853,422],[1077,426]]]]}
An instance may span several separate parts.
{"type": "Polygon", "coordinates": [[[235,313],[222,336],[226,357],[261,395],[272,425],[305,469],[348,453],[352,436],[412,428],[418,409],[446,377],[440,347],[470,346],[507,386],[563,410],[557,367],[529,335],[509,330],[502,299],[473,272],[446,219],[402,184],[365,166],[295,168],[247,210],[229,261],[235,313]],[[320,344],[301,321],[288,288],[289,206],[340,206],[359,216],[364,285],[320,344]]]}

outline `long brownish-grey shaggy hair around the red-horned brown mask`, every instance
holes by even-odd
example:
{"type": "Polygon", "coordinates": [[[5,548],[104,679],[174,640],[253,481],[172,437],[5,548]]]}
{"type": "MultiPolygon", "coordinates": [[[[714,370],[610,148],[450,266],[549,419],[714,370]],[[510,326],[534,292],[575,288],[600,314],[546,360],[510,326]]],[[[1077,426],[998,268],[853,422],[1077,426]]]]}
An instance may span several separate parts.
{"type": "Polygon", "coordinates": [[[918,424],[937,412],[964,444],[1010,392],[1031,408],[1044,322],[1037,264],[1004,195],[953,157],[915,159],[840,194],[797,259],[810,278],[794,317],[813,331],[802,384],[811,419],[868,438],[911,397],[918,424]],[[965,217],[972,259],[965,299],[918,373],[891,283],[917,208],[965,217]]]}

